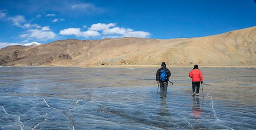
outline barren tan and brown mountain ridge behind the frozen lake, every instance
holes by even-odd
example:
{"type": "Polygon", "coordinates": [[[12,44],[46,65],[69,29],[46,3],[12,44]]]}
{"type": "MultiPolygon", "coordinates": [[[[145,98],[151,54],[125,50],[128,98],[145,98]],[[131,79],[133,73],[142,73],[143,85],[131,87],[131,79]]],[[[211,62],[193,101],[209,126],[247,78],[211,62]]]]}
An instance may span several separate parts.
{"type": "Polygon", "coordinates": [[[256,66],[256,27],[183,39],[66,39],[34,47],[0,49],[5,66],[109,66],[200,64],[256,66]]]}

